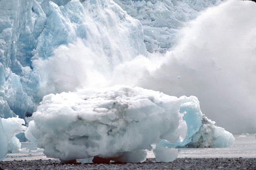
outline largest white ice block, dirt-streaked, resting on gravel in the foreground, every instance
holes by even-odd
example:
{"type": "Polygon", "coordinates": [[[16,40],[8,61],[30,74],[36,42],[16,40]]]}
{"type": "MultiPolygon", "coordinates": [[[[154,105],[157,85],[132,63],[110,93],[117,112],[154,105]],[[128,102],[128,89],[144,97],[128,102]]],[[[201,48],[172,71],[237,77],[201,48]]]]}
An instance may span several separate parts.
{"type": "Polygon", "coordinates": [[[121,85],[49,94],[25,134],[47,157],[63,161],[142,162],[149,144],[179,138],[180,105],[177,97],[121,85]]]}

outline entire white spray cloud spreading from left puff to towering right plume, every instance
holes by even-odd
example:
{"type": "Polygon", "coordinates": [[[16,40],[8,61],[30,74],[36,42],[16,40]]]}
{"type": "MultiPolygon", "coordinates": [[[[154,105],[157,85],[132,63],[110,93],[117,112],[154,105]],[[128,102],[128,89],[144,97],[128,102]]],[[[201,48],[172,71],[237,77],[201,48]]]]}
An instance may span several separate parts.
{"type": "Polygon", "coordinates": [[[41,75],[40,95],[115,84],[195,95],[202,112],[218,126],[255,133],[255,13],[253,2],[225,2],[201,12],[165,55],[137,56],[111,66],[95,44],[78,40],[60,46],[53,57],[33,62],[41,75]]]}

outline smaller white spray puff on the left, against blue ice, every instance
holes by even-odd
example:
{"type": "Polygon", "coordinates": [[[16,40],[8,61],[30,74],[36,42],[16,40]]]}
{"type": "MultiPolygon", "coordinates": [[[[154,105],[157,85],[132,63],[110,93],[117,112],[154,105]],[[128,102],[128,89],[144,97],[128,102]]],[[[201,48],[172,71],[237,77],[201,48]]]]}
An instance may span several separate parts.
{"type": "Polygon", "coordinates": [[[109,74],[108,60],[101,49],[88,48],[81,39],[61,45],[48,59],[33,61],[41,77],[39,96],[76,91],[84,87],[102,87],[109,74]]]}

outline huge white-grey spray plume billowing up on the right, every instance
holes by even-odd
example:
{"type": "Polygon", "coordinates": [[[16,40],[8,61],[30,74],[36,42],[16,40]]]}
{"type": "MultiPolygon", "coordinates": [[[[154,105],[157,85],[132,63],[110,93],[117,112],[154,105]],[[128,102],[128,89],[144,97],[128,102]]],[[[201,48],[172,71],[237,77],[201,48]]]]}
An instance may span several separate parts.
{"type": "Polygon", "coordinates": [[[202,12],[181,31],[168,61],[141,86],[195,95],[217,125],[255,133],[256,19],[250,17],[255,12],[256,4],[248,1],[228,1],[202,12]]]}

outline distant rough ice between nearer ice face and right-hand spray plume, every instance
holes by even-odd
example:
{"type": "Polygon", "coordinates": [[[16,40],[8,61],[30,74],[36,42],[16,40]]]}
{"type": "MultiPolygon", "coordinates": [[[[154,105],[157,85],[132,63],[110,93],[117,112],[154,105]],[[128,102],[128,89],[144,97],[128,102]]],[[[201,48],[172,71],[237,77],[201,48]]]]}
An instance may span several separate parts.
{"type": "Polygon", "coordinates": [[[178,40],[178,30],[195,19],[199,11],[218,5],[220,0],[114,0],[143,25],[147,50],[165,53],[178,40]]]}

